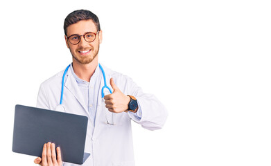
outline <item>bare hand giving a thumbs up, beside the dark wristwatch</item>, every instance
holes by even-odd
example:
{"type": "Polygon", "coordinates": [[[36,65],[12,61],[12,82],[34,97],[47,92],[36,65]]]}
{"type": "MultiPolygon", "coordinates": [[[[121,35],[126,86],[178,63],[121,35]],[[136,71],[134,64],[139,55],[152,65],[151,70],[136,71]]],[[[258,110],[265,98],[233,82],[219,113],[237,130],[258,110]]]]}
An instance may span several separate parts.
{"type": "Polygon", "coordinates": [[[108,109],[108,111],[114,113],[127,111],[130,97],[121,92],[118,86],[116,86],[114,83],[113,78],[110,79],[110,85],[112,86],[113,93],[105,95],[105,107],[108,109]]]}

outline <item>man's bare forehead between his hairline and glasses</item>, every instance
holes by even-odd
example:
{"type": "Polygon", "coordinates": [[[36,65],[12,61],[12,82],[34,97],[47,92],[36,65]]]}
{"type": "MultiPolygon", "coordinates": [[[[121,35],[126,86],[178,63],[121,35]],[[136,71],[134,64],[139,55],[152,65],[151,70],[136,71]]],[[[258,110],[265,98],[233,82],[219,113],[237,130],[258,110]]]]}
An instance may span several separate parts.
{"type": "Polygon", "coordinates": [[[69,35],[73,35],[73,34],[83,35],[87,32],[92,32],[92,33],[97,32],[97,28],[91,19],[78,21],[76,24],[71,24],[70,26],[67,27],[68,37],[69,35]]]}

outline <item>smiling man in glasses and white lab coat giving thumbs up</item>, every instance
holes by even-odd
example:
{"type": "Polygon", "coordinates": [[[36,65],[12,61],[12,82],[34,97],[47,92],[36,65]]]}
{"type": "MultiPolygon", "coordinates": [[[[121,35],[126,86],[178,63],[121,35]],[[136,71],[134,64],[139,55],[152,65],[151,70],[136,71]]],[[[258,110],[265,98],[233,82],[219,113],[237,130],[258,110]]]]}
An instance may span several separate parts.
{"type": "MultiPolygon", "coordinates": [[[[66,75],[61,71],[41,84],[37,107],[58,108],[64,77],[63,111],[89,118],[85,151],[91,156],[83,165],[134,165],[131,120],[149,130],[161,129],[167,118],[166,109],[155,96],[143,93],[129,77],[99,66],[103,31],[94,13],[71,12],[64,21],[64,33],[72,64],[66,75]],[[106,83],[112,89],[112,94],[107,91],[104,98],[103,70],[108,79],[106,83]]],[[[59,147],[55,152],[55,145],[48,142],[44,144],[42,158],[34,162],[62,165],[60,153],[59,147]]]]}

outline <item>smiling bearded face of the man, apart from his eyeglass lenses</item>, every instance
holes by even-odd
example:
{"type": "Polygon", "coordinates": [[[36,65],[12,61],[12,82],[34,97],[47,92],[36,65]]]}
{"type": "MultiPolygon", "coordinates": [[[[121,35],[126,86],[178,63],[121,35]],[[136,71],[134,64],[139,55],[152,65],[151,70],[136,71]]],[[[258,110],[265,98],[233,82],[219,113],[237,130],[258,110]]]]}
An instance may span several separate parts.
{"type": "MultiPolygon", "coordinates": [[[[97,33],[97,28],[92,20],[82,20],[67,27],[67,37],[71,35],[85,35],[85,33],[89,32],[97,33]]],[[[68,41],[67,37],[65,36],[67,47],[71,51],[73,60],[76,60],[78,63],[89,64],[98,55],[99,45],[102,42],[101,31],[99,31],[96,39],[91,43],[86,42],[82,36],[80,42],[73,45],[68,41]]]]}

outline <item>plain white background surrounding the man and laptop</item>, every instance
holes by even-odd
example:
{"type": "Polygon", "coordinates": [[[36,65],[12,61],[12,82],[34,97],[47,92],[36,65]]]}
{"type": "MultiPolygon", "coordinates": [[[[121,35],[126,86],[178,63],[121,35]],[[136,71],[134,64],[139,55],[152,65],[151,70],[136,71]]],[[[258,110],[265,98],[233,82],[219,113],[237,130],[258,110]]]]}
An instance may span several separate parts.
{"type": "MultiPolygon", "coordinates": [[[[269,1],[1,1],[1,162],[12,152],[15,104],[70,62],[64,18],[98,15],[100,62],[168,109],[163,129],[133,125],[138,166],[271,165],[269,1]]],[[[3,164],[1,164],[3,165],[3,164]]]]}

